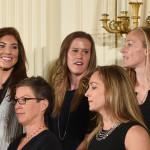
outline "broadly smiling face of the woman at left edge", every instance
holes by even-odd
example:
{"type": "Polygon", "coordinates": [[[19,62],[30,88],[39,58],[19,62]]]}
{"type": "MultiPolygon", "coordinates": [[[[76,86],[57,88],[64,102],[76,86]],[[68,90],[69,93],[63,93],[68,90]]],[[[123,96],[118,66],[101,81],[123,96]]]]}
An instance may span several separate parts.
{"type": "Polygon", "coordinates": [[[0,38],[0,69],[13,69],[18,61],[18,42],[12,35],[0,38]]]}

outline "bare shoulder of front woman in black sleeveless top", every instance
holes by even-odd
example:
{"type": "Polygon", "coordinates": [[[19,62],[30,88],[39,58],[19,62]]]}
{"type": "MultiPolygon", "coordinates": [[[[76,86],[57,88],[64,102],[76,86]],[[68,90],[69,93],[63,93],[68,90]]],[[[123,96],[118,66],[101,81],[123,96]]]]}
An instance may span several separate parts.
{"type": "Polygon", "coordinates": [[[125,138],[127,150],[150,150],[150,137],[146,129],[140,125],[131,127],[125,138]]]}

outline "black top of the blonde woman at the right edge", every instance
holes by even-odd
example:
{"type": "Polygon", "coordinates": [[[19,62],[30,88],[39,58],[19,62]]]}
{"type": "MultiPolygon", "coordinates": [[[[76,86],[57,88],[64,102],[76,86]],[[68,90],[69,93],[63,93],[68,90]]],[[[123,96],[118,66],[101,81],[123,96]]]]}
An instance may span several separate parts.
{"type": "Polygon", "coordinates": [[[140,105],[140,108],[145,124],[148,127],[150,133],[150,90],[148,91],[148,95],[145,102],[142,105],[140,105]]]}

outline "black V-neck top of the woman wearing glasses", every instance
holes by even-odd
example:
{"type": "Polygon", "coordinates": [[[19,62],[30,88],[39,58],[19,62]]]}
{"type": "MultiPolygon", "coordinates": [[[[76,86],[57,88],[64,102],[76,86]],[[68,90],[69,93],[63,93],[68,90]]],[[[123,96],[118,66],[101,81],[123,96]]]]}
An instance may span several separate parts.
{"type": "MultiPolygon", "coordinates": [[[[7,150],[16,150],[25,134],[12,142],[7,150]]],[[[62,150],[57,137],[49,130],[44,130],[33,137],[21,150],[62,150]]]]}

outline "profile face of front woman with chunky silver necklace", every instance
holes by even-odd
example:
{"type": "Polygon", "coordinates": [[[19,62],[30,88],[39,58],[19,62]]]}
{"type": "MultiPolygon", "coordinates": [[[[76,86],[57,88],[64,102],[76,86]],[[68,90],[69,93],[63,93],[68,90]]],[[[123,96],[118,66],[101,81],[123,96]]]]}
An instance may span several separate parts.
{"type": "Polygon", "coordinates": [[[85,96],[88,97],[90,111],[105,111],[105,86],[98,71],[91,76],[85,96]]]}

